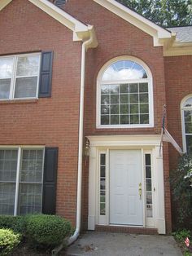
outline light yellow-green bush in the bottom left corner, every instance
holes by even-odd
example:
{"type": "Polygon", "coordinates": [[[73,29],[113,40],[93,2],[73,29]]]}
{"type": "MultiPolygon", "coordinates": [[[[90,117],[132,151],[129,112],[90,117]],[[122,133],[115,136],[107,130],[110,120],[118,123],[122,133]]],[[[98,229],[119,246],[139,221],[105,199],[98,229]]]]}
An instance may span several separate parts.
{"type": "Polygon", "coordinates": [[[20,234],[15,234],[10,229],[0,229],[0,255],[10,254],[19,243],[20,234]]]}

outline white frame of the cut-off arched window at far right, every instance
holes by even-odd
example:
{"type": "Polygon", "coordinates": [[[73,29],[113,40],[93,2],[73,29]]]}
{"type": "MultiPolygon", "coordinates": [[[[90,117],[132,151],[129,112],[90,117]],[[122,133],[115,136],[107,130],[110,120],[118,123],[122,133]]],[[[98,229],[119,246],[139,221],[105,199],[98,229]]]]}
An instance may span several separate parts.
{"type": "Polygon", "coordinates": [[[188,134],[185,133],[185,115],[184,115],[184,112],[185,112],[185,110],[191,110],[192,111],[192,107],[184,107],[184,104],[185,104],[185,101],[187,99],[190,99],[190,98],[192,98],[192,94],[185,96],[185,98],[181,100],[181,128],[182,128],[182,141],[183,141],[183,150],[184,150],[184,152],[187,152],[187,149],[186,149],[186,135],[188,135],[188,134]]]}

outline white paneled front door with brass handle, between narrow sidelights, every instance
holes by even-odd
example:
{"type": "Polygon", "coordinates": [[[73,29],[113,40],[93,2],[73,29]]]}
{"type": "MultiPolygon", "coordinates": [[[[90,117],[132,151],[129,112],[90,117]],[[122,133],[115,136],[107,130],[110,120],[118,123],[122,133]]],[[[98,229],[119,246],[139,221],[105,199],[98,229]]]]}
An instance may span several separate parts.
{"type": "Polygon", "coordinates": [[[110,151],[110,223],[143,225],[142,156],[140,150],[110,151]]]}

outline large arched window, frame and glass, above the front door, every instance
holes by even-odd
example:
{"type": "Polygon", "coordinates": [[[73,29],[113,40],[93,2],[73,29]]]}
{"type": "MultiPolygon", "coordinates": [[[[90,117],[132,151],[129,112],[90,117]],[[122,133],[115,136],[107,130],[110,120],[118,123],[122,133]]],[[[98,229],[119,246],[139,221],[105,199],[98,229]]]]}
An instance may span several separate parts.
{"type": "Polygon", "coordinates": [[[153,126],[152,76],[141,60],[121,57],[98,75],[98,128],[153,126]]]}

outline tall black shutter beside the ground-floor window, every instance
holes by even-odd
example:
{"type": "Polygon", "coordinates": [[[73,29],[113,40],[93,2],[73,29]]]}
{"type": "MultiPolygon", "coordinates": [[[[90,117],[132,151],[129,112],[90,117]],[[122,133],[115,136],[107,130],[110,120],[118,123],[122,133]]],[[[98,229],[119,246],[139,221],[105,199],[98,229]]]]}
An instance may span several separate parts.
{"type": "Polygon", "coordinates": [[[55,214],[58,148],[46,148],[42,192],[42,214],[55,214]]]}

